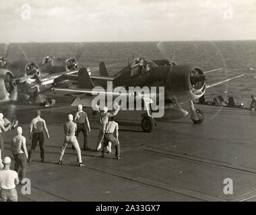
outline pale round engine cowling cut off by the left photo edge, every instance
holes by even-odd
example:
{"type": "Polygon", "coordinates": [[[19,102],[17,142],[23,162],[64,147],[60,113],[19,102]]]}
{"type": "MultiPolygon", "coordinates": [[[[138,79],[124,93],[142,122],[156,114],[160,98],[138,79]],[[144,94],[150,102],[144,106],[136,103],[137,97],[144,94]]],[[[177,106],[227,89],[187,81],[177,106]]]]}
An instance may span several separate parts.
{"type": "Polygon", "coordinates": [[[18,90],[13,85],[13,73],[7,69],[0,69],[0,102],[17,100],[18,90]]]}

